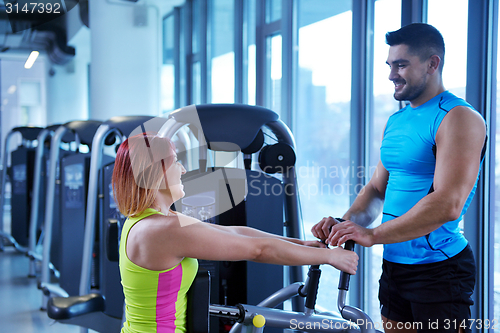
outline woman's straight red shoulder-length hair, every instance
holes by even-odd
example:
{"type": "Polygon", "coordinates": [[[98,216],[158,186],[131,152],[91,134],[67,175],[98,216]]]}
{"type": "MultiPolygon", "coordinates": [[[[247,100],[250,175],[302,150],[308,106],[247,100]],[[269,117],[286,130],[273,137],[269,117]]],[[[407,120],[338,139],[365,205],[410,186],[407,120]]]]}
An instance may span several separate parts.
{"type": "Polygon", "coordinates": [[[116,153],[111,183],[125,216],[154,206],[160,188],[168,189],[165,171],[174,163],[175,146],[168,138],[142,133],[123,141],[116,153]]]}

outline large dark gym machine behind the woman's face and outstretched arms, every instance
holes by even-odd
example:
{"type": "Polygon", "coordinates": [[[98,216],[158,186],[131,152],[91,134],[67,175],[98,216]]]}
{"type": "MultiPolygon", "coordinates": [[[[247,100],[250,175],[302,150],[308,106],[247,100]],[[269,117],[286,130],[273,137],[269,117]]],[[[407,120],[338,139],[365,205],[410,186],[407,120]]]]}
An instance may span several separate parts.
{"type": "MultiPolygon", "coordinates": [[[[186,126],[198,140],[198,169],[183,176],[186,196],[176,203],[177,210],[211,223],[247,225],[302,238],[294,140],[276,113],[248,105],[191,105],[172,112],[159,135],[172,138],[186,126]],[[265,136],[272,144],[265,145],[265,136]],[[223,165],[210,166],[210,157],[217,159],[219,152],[233,152],[237,157],[223,165]],[[259,162],[252,163],[256,160],[252,155],[257,153],[259,162]],[[244,168],[232,166],[241,156],[244,168]]],[[[302,281],[302,267],[289,267],[285,275],[284,267],[277,265],[204,260],[199,263],[209,270],[213,281],[212,303],[256,304],[282,288],[285,278],[290,283],[302,281]]],[[[292,303],[294,309],[303,307],[295,300],[292,303]]],[[[210,329],[227,332],[231,325],[230,320],[214,317],[210,329]]]]}

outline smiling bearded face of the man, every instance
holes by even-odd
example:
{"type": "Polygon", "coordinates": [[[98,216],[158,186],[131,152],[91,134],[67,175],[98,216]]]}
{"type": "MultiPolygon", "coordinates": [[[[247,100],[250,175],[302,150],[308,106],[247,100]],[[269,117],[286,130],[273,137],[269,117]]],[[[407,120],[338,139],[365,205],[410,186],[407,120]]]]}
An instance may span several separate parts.
{"type": "Polygon", "coordinates": [[[427,84],[427,61],[408,52],[405,44],[389,48],[387,64],[389,80],[394,82],[394,98],[398,101],[414,101],[420,97],[427,84]]]}

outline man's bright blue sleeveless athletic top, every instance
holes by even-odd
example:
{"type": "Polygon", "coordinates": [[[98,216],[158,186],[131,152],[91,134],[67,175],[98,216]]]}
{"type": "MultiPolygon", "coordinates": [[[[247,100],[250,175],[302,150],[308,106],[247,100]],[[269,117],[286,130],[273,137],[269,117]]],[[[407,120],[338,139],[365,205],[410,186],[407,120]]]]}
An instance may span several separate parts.
{"type": "MultiPolygon", "coordinates": [[[[387,121],[380,159],[389,172],[382,223],[405,214],[429,193],[436,158],[433,150],[441,121],[452,108],[472,106],[445,91],[417,108],[406,106],[387,121]]],[[[479,176],[479,175],[478,175],[479,176]]],[[[451,258],[467,246],[458,226],[476,191],[477,180],[460,217],[429,235],[385,244],[384,259],[401,264],[425,264],[451,258]]]]}

